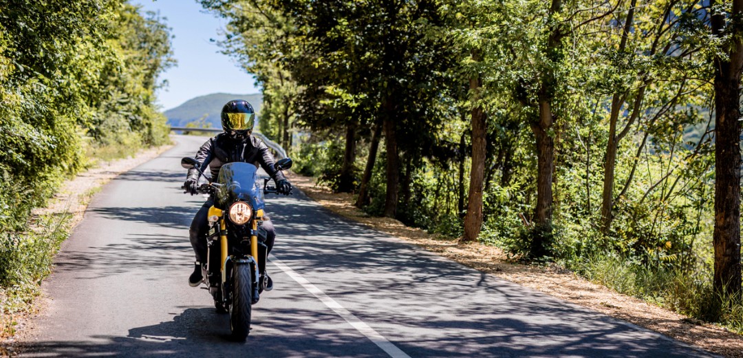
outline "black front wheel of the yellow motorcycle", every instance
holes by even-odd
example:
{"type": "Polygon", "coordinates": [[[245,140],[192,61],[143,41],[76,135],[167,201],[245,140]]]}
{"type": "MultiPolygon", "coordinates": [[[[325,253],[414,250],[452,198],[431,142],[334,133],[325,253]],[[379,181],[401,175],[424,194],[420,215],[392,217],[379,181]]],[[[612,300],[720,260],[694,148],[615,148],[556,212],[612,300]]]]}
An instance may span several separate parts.
{"type": "Polygon", "coordinates": [[[230,305],[230,330],[233,339],[244,341],[250,333],[250,303],[253,301],[253,277],[250,265],[233,266],[233,295],[230,305]]]}

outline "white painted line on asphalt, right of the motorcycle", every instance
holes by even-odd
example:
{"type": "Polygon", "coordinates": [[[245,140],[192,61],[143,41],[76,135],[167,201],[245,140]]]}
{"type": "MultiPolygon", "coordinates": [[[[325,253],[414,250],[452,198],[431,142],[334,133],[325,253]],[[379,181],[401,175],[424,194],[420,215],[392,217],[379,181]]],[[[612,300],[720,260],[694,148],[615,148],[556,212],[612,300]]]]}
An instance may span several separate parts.
{"type": "Polygon", "coordinates": [[[400,348],[392,344],[392,342],[389,342],[380,333],[374,330],[374,328],[369,327],[369,325],[361,321],[357,316],[354,316],[353,313],[343,308],[343,306],[341,306],[333,298],[330,298],[330,296],[325,295],[325,293],[323,293],[322,290],[317,288],[317,286],[315,286],[314,284],[311,284],[310,281],[307,281],[305,278],[302,277],[302,275],[299,275],[298,273],[296,273],[296,271],[291,269],[291,267],[286,266],[286,264],[283,263],[281,260],[277,259],[276,256],[271,255],[270,262],[272,262],[274,265],[279,267],[279,269],[281,269],[289,277],[293,278],[293,280],[296,281],[298,284],[301,284],[302,287],[305,287],[305,290],[308,290],[311,294],[317,297],[317,299],[319,299],[322,303],[324,303],[325,306],[328,306],[328,308],[333,310],[333,312],[335,312],[338,316],[345,319],[345,322],[348,322],[349,325],[356,328],[356,330],[358,330],[361,334],[366,336],[366,338],[371,340],[371,342],[374,342],[375,345],[377,345],[379,348],[382,348],[383,351],[389,354],[389,357],[410,358],[409,355],[401,351],[400,348]]]}

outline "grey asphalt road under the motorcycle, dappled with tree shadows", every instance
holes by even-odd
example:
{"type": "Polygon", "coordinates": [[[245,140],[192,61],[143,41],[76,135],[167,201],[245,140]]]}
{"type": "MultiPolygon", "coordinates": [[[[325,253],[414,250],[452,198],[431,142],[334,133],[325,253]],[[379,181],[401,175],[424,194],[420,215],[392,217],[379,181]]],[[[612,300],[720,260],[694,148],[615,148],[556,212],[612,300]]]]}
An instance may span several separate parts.
{"type": "MultiPolygon", "coordinates": [[[[268,196],[275,289],[246,343],[192,270],[179,144],[97,194],[56,258],[53,300],[23,357],[710,357],[432,255],[331,214],[305,195],[268,196]]],[[[296,191],[295,191],[296,192],[296,191]]]]}

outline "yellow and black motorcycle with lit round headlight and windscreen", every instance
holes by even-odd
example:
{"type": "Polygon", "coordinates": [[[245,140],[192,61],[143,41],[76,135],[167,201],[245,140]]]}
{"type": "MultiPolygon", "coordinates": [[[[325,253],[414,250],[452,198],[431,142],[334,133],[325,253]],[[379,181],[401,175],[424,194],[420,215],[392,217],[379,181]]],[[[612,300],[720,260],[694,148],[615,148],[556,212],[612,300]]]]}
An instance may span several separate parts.
{"type": "MultiPolygon", "coordinates": [[[[276,170],[290,168],[289,158],[280,159],[276,170]]],[[[186,169],[196,168],[205,176],[201,163],[181,159],[186,169]]],[[[252,305],[259,301],[267,286],[265,275],[267,247],[260,223],[265,215],[265,194],[279,194],[270,179],[259,184],[258,169],[253,164],[233,162],[222,165],[216,182],[198,186],[198,193],[214,194],[214,205],[207,220],[207,265],[202,277],[220,313],[230,313],[230,332],[238,341],[250,333],[252,305]]]]}

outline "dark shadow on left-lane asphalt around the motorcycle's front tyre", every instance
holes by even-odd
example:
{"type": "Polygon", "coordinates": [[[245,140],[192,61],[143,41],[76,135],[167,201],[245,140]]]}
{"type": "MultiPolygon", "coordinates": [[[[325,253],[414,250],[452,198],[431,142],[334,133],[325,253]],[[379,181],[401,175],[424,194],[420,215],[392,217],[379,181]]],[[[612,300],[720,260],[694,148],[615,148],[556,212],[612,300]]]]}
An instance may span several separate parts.
{"type": "Polygon", "coordinates": [[[86,342],[35,342],[24,357],[383,357],[383,351],[349,336],[330,313],[275,309],[253,321],[247,342],[230,339],[226,314],[186,308],[172,321],[134,327],[128,336],[92,336],[86,342]],[[270,318],[265,318],[265,316],[270,318]],[[313,327],[307,334],[307,327],[313,327]],[[282,333],[280,336],[271,333],[282,333]]]}

